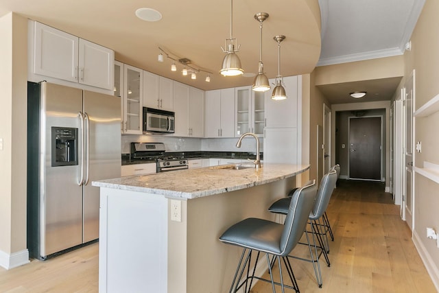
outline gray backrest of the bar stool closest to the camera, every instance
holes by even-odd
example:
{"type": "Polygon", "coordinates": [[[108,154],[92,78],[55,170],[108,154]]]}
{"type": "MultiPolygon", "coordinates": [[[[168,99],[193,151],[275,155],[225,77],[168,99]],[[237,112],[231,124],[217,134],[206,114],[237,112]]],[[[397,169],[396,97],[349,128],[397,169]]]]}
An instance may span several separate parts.
{"type": "Polygon", "coordinates": [[[285,257],[291,253],[291,250],[299,242],[305,231],[309,213],[314,206],[316,200],[316,180],[312,180],[311,184],[300,187],[294,192],[287,217],[285,218],[280,248],[281,255],[285,257]]]}

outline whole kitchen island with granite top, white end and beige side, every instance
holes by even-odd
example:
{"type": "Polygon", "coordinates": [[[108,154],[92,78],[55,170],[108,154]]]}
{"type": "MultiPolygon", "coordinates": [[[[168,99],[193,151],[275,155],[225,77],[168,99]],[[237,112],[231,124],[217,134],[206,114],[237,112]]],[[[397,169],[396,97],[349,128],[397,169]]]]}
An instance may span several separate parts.
{"type": "Polygon", "coordinates": [[[275,220],[268,207],[307,180],[298,179],[307,169],[222,165],[93,182],[99,292],[228,292],[241,249],[218,237],[245,218],[275,220]]]}

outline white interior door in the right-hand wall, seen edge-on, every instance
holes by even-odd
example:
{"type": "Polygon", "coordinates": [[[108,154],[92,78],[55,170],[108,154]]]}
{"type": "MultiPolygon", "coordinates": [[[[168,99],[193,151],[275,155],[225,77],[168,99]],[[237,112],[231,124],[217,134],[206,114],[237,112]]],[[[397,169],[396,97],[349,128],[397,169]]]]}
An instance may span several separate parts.
{"type": "Polygon", "coordinates": [[[413,105],[414,105],[414,71],[405,83],[404,113],[404,218],[407,225],[413,230],[414,226],[414,174],[413,174],[413,105]]]}

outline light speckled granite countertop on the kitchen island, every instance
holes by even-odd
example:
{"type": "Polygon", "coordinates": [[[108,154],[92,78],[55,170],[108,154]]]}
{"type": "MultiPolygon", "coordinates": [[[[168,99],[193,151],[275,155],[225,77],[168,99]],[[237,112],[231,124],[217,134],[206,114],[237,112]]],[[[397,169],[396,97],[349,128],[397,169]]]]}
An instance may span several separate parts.
{"type": "Polygon", "coordinates": [[[140,191],[169,198],[200,198],[235,191],[296,176],[309,165],[263,163],[261,169],[226,169],[220,165],[149,175],[93,181],[92,185],[112,189],[140,191]]]}

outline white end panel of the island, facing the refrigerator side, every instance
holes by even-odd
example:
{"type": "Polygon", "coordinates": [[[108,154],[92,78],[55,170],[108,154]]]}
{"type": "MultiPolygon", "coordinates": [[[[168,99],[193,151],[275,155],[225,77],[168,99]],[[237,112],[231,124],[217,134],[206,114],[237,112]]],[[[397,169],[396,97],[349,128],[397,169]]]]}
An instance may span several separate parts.
{"type": "Polygon", "coordinates": [[[99,292],[167,292],[167,199],[101,187],[99,292]]]}

